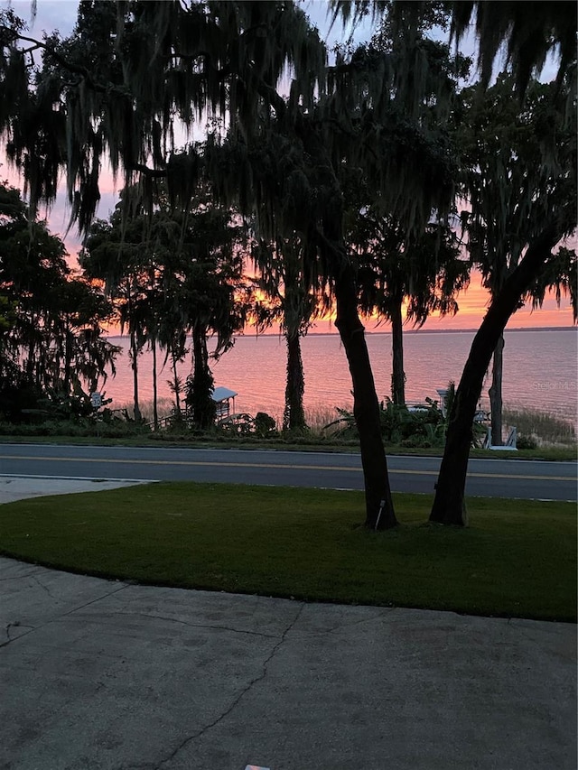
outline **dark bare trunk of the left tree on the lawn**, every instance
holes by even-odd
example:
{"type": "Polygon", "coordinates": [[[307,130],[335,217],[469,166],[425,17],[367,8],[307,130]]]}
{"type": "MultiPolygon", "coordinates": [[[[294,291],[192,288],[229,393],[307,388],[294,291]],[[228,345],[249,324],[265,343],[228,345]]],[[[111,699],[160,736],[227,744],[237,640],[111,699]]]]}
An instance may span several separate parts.
{"type": "Polygon", "coordinates": [[[386,451],[379,421],[379,402],[369,362],[364,328],[359,320],[353,268],[345,265],[335,276],[339,329],[353,383],[353,414],[359,431],[365,484],[366,520],[370,529],[390,529],[397,519],[389,487],[386,451]]]}

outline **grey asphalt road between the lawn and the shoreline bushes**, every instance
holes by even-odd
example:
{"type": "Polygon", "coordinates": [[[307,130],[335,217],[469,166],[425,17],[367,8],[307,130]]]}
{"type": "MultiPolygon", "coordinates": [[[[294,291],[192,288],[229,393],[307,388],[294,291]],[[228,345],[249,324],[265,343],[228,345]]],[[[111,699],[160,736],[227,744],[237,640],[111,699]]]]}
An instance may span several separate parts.
{"type": "MultiPolygon", "coordinates": [[[[393,490],[432,493],[439,464],[388,458],[393,490]]],[[[0,475],[363,489],[359,454],[322,452],[3,444],[0,475]]],[[[466,494],[575,501],[577,480],[575,462],[471,459],[466,494]]]]}

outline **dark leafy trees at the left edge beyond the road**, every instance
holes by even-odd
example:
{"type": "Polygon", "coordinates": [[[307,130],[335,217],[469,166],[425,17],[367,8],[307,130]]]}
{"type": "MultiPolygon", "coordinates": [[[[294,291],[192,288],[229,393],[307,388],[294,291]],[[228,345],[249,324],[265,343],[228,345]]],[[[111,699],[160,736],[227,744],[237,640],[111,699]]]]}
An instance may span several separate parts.
{"type": "MultiPolygon", "coordinates": [[[[71,395],[80,411],[115,373],[117,348],[103,336],[112,308],[98,289],[71,274],[66,249],[34,221],[19,190],[0,185],[0,391],[16,421],[42,399],[71,395]]],[[[90,410],[89,410],[90,411],[90,410]]]]}

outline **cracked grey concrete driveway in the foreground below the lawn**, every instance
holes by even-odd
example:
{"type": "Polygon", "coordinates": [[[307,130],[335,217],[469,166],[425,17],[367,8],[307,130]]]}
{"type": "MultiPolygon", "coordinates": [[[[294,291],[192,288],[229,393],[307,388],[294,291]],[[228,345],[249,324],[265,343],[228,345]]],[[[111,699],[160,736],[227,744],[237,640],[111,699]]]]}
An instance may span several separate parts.
{"type": "Polygon", "coordinates": [[[2,770],[576,767],[573,625],[10,559],[0,586],[2,770]]]}

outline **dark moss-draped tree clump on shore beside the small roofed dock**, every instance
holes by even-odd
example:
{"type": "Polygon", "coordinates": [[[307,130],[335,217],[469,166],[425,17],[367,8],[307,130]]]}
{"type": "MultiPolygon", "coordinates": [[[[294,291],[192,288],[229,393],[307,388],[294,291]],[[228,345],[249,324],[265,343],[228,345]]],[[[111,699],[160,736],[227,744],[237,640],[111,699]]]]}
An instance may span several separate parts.
{"type": "MultiPolygon", "coordinates": [[[[232,345],[233,335],[242,329],[245,319],[238,254],[244,230],[233,224],[228,209],[213,204],[209,190],[199,189],[183,214],[171,209],[161,188],[150,217],[142,206],[135,205],[136,193],[125,195],[109,224],[98,222],[92,228],[81,264],[90,275],[106,282],[117,302],[121,325],[129,331],[136,419],[137,356],[146,344],[152,350],[156,427],[157,351],[165,351],[164,363],[172,358],[179,411],[176,364],[185,355],[189,332],[193,338],[192,387],[196,382],[200,402],[210,408],[207,337],[216,336],[213,355],[219,356],[232,345]]],[[[210,424],[194,414],[193,422],[203,428],[210,424]]]]}

